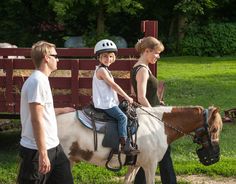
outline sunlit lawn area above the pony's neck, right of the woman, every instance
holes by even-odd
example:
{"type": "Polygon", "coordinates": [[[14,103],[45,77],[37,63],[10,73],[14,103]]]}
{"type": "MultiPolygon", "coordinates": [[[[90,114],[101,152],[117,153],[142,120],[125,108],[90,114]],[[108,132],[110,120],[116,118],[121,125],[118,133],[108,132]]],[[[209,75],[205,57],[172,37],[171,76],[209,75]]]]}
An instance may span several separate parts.
{"type": "Polygon", "coordinates": [[[162,58],[158,78],[165,81],[169,105],[235,107],[236,58],[162,58]]]}

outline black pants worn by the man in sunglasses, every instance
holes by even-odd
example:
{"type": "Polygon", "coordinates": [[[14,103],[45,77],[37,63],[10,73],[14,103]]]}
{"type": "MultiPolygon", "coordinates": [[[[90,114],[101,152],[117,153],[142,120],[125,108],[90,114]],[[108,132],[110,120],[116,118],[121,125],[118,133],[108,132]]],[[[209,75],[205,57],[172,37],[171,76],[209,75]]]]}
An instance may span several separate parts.
{"type": "Polygon", "coordinates": [[[19,154],[21,158],[19,184],[73,184],[70,162],[61,145],[48,150],[51,171],[45,175],[38,172],[39,154],[37,150],[20,146],[19,154]]]}

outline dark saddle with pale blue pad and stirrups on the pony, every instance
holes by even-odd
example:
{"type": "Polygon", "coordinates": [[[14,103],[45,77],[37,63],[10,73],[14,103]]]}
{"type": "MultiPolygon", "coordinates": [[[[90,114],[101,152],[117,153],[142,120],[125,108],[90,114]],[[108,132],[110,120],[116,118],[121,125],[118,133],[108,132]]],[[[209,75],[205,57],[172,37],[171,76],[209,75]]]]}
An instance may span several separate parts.
{"type": "MultiPolygon", "coordinates": [[[[128,104],[127,101],[122,101],[119,104],[120,109],[126,114],[128,118],[127,124],[127,138],[130,139],[130,142],[133,147],[137,148],[137,130],[138,130],[138,118],[136,114],[136,108],[128,104]],[[133,136],[135,134],[135,139],[133,136]]],[[[120,151],[119,151],[119,135],[118,135],[118,126],[117,120],[106,114],[102,109],[96,109],[92,103],[84,107],[82,111],[77,111],[78,119],[80,122],[85,125],[87,128],[93,130],[94,134],[94,150],[97,150],[97,133],[103,133],[104,138],[102,145],[104,147],[111,148],[111,152],[108,156],[106,167],[112,171],[119,171],[122,167],[120,160],[120,151]],[[118,154],[119,168],[111,168],[109,162],[113,157],[113,154],[118,154]]],[[[124,165],[134,165],[136,163],[137,156],[126,156],[126,162],[124,165]]]]}

